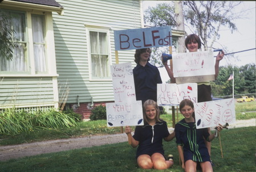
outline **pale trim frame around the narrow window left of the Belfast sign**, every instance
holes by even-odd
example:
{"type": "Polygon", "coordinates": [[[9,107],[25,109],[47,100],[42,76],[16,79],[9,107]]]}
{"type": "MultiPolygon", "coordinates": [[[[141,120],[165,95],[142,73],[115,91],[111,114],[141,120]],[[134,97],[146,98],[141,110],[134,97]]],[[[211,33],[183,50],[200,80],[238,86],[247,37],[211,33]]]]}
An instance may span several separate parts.
{"type": "Polygon", "coordinates": [[[112,57],[111,57],[111,44],[110,44],[110,36],[109,36],[109,30],[110,27],[104,27],[104,26],[91,26],[86,25],[86,36],[87,36],[87,57],[88,57],[88,68],[89,68],[89,80],[90,81],[112,81],[111,77],[111,64],[112,64],[112,57]],[[108,49],[108,77],[93,77],[92,76],[92,57],[91,57],[91,40],[90,40],[90,31],[92,32],[102,32],[106,33],[106,42],[107,42],[107,49],[108,49]]]}

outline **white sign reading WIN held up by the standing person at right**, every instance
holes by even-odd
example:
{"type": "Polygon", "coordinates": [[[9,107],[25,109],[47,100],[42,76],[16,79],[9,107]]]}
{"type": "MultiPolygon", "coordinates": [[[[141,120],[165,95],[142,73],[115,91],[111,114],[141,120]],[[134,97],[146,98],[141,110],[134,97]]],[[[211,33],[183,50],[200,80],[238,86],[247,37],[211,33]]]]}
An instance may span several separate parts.
{"type": "Polygon", "coordinates": [[[214,75],[214,57],[212,51],[179,53],[173,56],[173,76],[191,77],[214,75]]]}

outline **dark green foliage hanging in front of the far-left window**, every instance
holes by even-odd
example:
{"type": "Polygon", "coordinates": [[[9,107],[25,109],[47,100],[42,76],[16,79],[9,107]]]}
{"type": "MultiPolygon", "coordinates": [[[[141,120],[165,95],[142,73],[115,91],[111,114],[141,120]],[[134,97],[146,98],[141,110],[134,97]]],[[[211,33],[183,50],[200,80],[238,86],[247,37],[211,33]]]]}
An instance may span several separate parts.
{"type": "Polygon", "coordinates": [[[17,39],[13,36],[15,31],[11,28],[10,21],[11,16],[0,10],[0,59],[12,60],[14,48],[18,47],[15,42],[17,39]]]}

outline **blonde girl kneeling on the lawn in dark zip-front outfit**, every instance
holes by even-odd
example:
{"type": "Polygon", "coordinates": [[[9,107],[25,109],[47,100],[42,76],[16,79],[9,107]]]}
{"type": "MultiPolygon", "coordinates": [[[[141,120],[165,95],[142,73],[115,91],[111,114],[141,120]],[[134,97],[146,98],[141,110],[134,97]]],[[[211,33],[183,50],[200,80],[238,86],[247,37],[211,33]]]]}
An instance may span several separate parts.
{"type": "Polygon", "coordinates": [[[154,100],[146,100],[143,104],[144,125],[136,126],[131,135],[131,127],[125,127],[128,140],[133,148],[137,148],[136,159],[141,169],[168,169],[173,165],[172,155],[165,160],[162,139],[172,140],[175,135],[169,133],[166,121],[160,119],[160,110],[154,100]]]}

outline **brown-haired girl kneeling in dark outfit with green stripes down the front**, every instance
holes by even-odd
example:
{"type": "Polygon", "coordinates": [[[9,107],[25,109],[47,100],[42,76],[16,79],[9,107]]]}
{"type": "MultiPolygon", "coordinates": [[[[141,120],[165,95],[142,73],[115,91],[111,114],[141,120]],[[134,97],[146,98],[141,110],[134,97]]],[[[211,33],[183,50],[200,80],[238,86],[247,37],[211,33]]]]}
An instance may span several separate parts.
{"type": "MultiPolygon", "coordinates": [[[[205,140],[208,142],[214,139],[214,133],[209,134],[207,128],[196,129],[193,118],[194,104],[189,99],[184,99],[180,103],[180,112],[184,119],[175,125],[175,137],[180,154],[182,168],[185,171],[196,172],[197,163],[202,168],[202,172],[212,172],[212,164],[205,140]]],[[[218,131],[222,130],[222,125],[217,126],[218,131]]]]}

